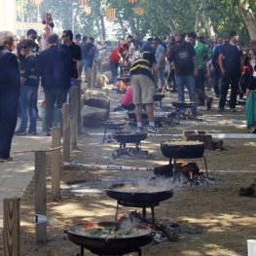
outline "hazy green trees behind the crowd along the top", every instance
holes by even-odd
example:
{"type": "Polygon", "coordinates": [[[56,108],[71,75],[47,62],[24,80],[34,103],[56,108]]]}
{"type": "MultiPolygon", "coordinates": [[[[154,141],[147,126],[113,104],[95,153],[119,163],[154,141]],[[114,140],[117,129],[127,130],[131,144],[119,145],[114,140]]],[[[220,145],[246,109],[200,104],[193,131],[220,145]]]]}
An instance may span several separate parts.
{"type": "MultiPolygon", "coordinates": [[[[205,37],[228,37],[231,30],[238,31],[241,41],[256,39],[256,1],[253,0],[90,0],[91,14],[77,0],[44,0],[39,7],[51,13],[59,29],[72,28],[72,11],[75,33],[91,35],[106,40],[105,9],[115,9],[115,20],[111,25],[117,37],[135,34],[140,38],[175,34],[177,32],[200,32],[205,37]],[[143,15],[132,8],[143,8],[143,15]]],[[[37,8],[30,0],[17,0],[17,17],[24,21],[37,21],[37,8]],[[23,2],[23,7],[21,7],[23,2]]]]}

